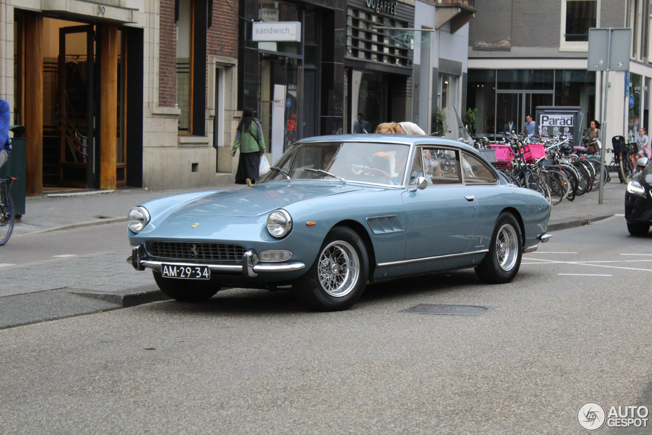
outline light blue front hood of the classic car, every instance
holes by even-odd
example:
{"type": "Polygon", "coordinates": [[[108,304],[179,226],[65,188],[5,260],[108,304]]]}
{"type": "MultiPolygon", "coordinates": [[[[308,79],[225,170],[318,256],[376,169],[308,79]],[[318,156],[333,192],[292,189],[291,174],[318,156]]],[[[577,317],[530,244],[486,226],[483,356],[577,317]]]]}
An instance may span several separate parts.
{"type": "Polygon", "coordinates": [[[261,216],[293,202],[361,190],[341,183],[263,183],[245,189],[217,191],[187,202],[173,216],[261,216]]]}

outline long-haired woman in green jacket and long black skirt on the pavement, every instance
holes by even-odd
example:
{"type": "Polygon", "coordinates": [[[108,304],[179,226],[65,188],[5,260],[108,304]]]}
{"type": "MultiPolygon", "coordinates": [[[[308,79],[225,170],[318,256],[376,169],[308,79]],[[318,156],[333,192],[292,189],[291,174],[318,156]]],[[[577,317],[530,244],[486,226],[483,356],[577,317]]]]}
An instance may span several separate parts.
{"type": "MultiPolygon", "coordinates": [[[[231,156],[240,147],[238,170],[235,172],[235,184],[252,185],[258,179],[258,167],[261,155],[265,155],[265,140],[260,123],[254,118],[254,110],[245,107],[238,123],[238,131],[233,140],[231,156]]],[[[263,157],[267,158],[267,157],[263,157]]]]}

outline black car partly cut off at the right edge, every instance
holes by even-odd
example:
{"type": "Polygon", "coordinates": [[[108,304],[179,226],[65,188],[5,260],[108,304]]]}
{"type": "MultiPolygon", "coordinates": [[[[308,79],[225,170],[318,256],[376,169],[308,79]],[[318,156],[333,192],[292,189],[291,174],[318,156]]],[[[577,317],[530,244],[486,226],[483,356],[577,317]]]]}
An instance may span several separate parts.
{"type": "Polygon", "coordinates": [[[652,165],[647,165],[627,184],[625,220],[629,234],[647,235],[652,223],[652,165]]]}

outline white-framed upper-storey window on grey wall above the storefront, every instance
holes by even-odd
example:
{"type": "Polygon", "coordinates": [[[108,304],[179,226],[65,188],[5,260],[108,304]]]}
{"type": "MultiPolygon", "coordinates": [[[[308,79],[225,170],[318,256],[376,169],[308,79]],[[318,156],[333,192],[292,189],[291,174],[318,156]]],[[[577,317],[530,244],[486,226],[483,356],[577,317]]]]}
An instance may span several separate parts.
{"type": "Polygon", "coordinates": [[[588,50],[589,29],[600,22],[599,0],[561,1],[561,49],[588,50]]]}

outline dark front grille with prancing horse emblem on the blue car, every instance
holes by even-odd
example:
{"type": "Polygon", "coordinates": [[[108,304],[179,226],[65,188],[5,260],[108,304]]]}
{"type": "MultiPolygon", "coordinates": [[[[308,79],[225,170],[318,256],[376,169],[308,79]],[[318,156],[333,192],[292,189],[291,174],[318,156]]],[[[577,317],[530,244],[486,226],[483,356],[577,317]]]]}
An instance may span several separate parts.
{"type": "Polygon", "coordinates": [[[226,243],[145,242],[150,257],[188,261],[240,263],[244,248],[226,243]]]}

